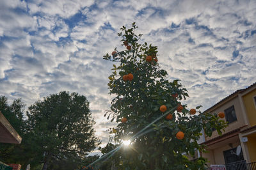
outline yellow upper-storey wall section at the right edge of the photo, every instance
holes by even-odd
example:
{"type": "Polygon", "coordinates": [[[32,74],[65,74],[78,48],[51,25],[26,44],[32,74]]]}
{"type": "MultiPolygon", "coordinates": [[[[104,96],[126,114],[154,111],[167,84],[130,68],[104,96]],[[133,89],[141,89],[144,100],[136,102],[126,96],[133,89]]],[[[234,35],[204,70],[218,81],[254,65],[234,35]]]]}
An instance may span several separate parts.
{"type": "Polygon", "coordinates": [[[256,89],[243,96],[244,107],[246,109],[248,120],[250,121],[251,126],[256,125],[256,108],[253,99],[255,96],[256,89]]]}

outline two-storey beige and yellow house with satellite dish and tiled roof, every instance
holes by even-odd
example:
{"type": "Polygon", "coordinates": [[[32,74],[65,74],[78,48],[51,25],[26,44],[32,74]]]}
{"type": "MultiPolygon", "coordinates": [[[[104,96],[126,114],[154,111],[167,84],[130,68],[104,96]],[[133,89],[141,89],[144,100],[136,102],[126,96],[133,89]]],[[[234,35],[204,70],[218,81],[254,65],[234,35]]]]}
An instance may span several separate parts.
{"type": "Polygon", "coordinates": [[[256,162],[256,82],[223,98],[205,112],[225,112],[223,120],[228,123],[222,135],[214,130],[202,143],[208,152],[200,155],[209,160],[209,166],[256,162]]]}

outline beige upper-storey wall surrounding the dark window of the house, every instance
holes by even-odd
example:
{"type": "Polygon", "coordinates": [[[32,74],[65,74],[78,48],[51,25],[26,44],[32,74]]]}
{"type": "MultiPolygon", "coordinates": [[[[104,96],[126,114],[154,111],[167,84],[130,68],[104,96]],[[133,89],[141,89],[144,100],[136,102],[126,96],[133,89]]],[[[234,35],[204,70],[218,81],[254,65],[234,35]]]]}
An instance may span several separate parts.
{"type": "MultiPolygon", "coordinates": [[[[230,131],[232,131],[236,128],[239,128],[239,127],[242,127],[243,125],[245,125],[243,112],[242,112],[242,107],[241,107],[241,104],[239,102],[239,98],[238,97],[233,98],[232,100],[228,101],[227,103],[219,106],[217,109],[214,109],[214,110],[211,111],[211,113],[218,114],[218,112],[224,112],[225,109],[228,109],[228,107],[231,107],[232,105],[234,105],[234,107],[235,107],[237,121],[229,123],[228,127],[225,128],[224,133],[230,132],[230,131]]],[[[226,121],[225,118],[223,118],[223,120],[226,121]]],[[[214,130],[214,132],[212,132],[211,137],[206,137],[206,141],[209,140],[209,139],[212,139],[214,137],[218,137],[218,136],[219,136],[218,132],[216,130],[214,130]]]]}

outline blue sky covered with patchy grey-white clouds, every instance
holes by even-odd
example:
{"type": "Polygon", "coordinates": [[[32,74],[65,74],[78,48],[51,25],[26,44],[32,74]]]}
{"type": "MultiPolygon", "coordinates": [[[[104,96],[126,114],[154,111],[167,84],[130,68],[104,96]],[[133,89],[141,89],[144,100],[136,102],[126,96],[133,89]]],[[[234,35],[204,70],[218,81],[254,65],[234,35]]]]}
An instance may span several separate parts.
{"type": "Polygon", "coordinates": [[[112,63],[102,56],[124,48],[121,26],[136,22],[188,105],[204,111],[256,81],[255,16],[255,0],[0,0],[0,95],[27,106],[63,90],[85,95],[106,143],[112,63]]]}

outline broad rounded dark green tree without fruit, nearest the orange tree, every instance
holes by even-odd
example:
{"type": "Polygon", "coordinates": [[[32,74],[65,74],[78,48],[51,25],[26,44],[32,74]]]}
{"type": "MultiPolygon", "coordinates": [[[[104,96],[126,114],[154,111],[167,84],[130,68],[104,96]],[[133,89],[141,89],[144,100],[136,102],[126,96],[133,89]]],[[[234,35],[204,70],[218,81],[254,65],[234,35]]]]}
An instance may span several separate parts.
{"type": "Polygon", "coordinates": [[[54,164],[77,165],[99,144],[89,102],[83,95],[66,91],[50,95],[31,105],[27,116],[30,147],[36,153],[31,161],[44,163],[43,169],[71,168],[54,164]]]}

